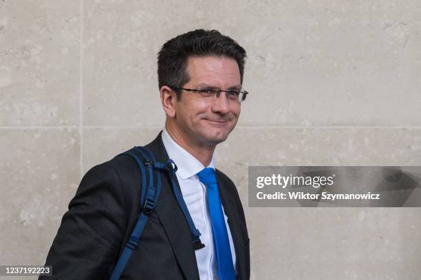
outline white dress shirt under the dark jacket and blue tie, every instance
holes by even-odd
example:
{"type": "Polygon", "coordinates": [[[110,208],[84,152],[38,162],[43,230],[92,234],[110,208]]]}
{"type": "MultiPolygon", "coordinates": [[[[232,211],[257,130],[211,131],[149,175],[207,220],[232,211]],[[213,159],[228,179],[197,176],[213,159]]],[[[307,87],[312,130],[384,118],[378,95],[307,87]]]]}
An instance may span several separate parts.
{"type": "MultiPolygon", "coordinates": [[[[205,244],[204,248],[195,250],[199,277],[201,280],[219,279],[219,276],[217,275],[216,252],[213,247],[212,225],[210,224],[208,202],[206,200],[206,187],[199,181],[199,177],[197,176],[197,173],[202,171],[205,167],[199,160],[175,143],[165,129],[162,132],[162,142],[164,143],[169,158],[177,165],[177,172],[175,174],[177,175],[184,202],[186,202],[188,212],[190,213],[196,228],[202,234],[200,235],[200,240],[205,244]]],[[[215,170],[213,156],[207,167],[212,167],[215,170]]],[[[222,211],[224,213],[226,229],[228,231],[233,264],[235,271],[237,272],[233,237],[231,236],[224,207],[222,207],[222,211]]]]}

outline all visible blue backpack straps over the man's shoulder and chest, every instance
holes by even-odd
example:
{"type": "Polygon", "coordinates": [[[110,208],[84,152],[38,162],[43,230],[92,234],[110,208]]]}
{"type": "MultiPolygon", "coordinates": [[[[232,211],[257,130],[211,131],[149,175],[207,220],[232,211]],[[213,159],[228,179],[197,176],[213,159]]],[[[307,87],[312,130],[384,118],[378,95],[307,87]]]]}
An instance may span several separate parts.
{"type": "Polygon", "coordinates": [[[153,156],[152,152],[145,147],[133,147],[126,152],[122,152],[117,156],[131,156],[134,161],[138,164],[140,170],[140,177],[141,177],[141,193],[140,193],[140,205],[142,209],[140,209],[140,215],[138,218],[138,222],[134,227],[129,240],[125,248],[123,249],[120,258],[117,261],[116,266],[114,267],[113,272],[111,273],[110,280],[118,280],[125,269],[127,262],[129,261],[133,250],[138,247],[140,242],[140,235],[142,235],[142,231],[144,226],[149,218],[149,215],[153,212],[153,208],[158,201],[161,191],[161,176],[163,172],[169,174],[169,178],[171,180],[171,185],[173,188],[173,193],[177,200],[180,209],[182,210],[184,217],[187,220],[188,226],[190,228],[191,239],[193,241],[193,248],[198,250],[203,248],[205,245],[202,244],[200,241],[200,232],[196,229],[195,224],[191,218],[190,213],[188,213],[188,209],[186,203],[184,202],[181,189],[179,185],[175,181],[175,172],[177,172],[177,166],[175,163],[169,159],[166,163],[160,163],[155,160],[155,156],[153,156]],[[174,165],[174,167],[173,167],[174,165]]]}

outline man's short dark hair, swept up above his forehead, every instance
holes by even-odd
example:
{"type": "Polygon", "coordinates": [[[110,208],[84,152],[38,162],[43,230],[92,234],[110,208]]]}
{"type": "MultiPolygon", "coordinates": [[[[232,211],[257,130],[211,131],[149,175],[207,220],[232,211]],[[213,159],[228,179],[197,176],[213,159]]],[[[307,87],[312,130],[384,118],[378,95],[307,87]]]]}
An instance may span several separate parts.
{"type": "MultiPolygon", "coordinates": [[[[193,30],[180,34],[162,45],[158,52],[158,85],[181,88],[190,79],[187,61],[190,56],[226,56],[237,61],[243,83],[246,50],[217,30],[193,30]]],[[[177,99],[181,91],[176,91],[177,99]]]]}

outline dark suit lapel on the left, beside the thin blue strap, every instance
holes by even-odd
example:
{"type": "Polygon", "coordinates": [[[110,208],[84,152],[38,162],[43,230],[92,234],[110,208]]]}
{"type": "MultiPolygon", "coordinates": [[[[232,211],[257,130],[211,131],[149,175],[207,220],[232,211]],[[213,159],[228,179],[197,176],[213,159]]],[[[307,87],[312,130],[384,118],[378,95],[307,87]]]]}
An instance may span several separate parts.
{"type": "MultiPolygon", "coordinates": [[[[166,163],[169,157],[162,143],[161,133],[162,131],[155,140],[147,145],[147,148],[153,152],[157,161],[166,163]]],[[[177,181],[177,177],[175,180],[177,181]]],[[[155,213],[164,227],[184,276],[186,279],[199,279],[199,270],[188,224],[173,194],[169,176],[162,176],[162,189],[155,206],[155,213]]]]}

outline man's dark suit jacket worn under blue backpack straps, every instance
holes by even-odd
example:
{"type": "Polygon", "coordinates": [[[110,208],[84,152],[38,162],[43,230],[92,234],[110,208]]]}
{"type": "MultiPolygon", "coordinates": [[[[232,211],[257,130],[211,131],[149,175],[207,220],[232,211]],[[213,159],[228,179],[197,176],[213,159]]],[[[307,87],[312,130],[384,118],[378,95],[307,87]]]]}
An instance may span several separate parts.
{"type": "MultiPolygon", "coordinates": [[[[157,161],[168,160],[161,133],[147,148],[157,161]]],[[[244,211],[234,183],[219,170],[216,174],[233,235],[237,279],[249,279],[249,239],[244,211]]],[[[52,265],[53,277],[45,279],[109,279],[139,213],[140,172],[131,157],[117,156],[91,168],[63,216],[45,262],[52,265]]],[[[162,176],[157,205],[121,279],[199,279],[188,224],[175,200],[168,175],[162,176]]]]}

